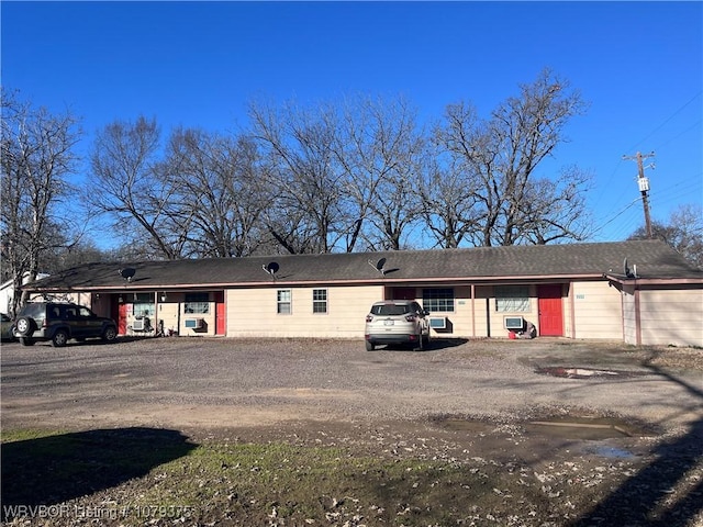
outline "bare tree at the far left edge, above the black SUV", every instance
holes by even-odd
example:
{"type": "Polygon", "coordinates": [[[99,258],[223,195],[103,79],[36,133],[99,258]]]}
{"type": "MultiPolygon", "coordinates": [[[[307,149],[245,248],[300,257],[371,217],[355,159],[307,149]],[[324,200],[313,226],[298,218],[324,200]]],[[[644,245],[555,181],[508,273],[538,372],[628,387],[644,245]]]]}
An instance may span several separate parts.
{"type": "Polygon", "coordinates": [[[67,177],[77,157],[79,131],[70,112],[52,114],[2,93],[2,206],[0,235],[3,278],[14,287],[11,314],[26,294],[18,294],[23,279],[36,279],[42,258],[70,244],[70,223],[60,209],[67,177]]]}

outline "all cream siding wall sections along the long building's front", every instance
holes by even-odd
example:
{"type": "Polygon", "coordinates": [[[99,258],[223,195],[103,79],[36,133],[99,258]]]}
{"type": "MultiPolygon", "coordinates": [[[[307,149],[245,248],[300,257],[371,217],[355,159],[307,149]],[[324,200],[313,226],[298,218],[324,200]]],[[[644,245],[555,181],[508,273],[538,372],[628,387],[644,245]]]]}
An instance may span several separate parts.
{"type": "MultiPolygon", "coordinates": [[[[442,288],[443,285],[433,285],[442,288]]],[[[448,287],[448,285],[445,285],[448,287]]],[[[408,288],[404,288],[408,289],[408,288]]],[[[470,285],[455,285],[454,312],[431,313],[445,316],[447,329],[433,329],[435,337],[506,338],[505,316],[522,316],[539,325],[537,287],[528,288],[529,304],[524,312],[495,311],[493,285],[476,285],[471,298],[470,285]],[[489,330],[490,328],[490,330],[489,330]]],[[[416,287],[415,300],[422,303],[422,287],[416,287]]],[[[563,289],[562,301],[565,336],[584,339],[624,339],[638,344],[638,332],[644,345],[703,346],[703,290],[702,289],[645,289],[639,295],[637,327],[636,295],[633,285],[621,292],[605,281],[573,282],[563,289]]],[[[323,337],[362,338],[364,319],[369,306],[392,292],[382,285],[348,287],[272,287],[225,291],[226,336],[228,337],[323,337]],[[291,313],[277,313],[277,291],[290,289],[291,313]],[[327,312],[313,313],[313,290],[327,292],[327,312]]],[[[211,295],[213,299],[213,295],[211,295]]],[[[76,302],[92,306],[99,314],[110,312],[110,295],[74,294],[76,302]]],[[[210,302],[208,313],[185,313],[185,295],[169,293],[166,302],[158,302],[156,313],[150,313],[152,325],[181,336],[215,335],[215,302],[210,302]],[[202,318],[202,329],[186,327],[186,319],[202,318]]],[[[127,326],[134,323],[134,313],[127,311],[127,326]]],[[[115,316],[116,318],[116,316],[115,316]]],[[[131,332],[129,332],[131,333],[131,332]]]]}

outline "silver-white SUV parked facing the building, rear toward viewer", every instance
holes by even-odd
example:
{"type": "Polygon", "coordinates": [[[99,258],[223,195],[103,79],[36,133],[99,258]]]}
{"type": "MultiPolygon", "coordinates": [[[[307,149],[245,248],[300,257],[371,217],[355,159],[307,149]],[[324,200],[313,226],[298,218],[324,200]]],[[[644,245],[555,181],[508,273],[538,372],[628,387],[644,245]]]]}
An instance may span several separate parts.
{"type": "Polygon", "coordinates": [[[376,302],[366,315],[366,349],[371,351],[378,344],[411,344],[416,350],[424,349],[429,343],[428,314],[410,300],[376,302]]]}

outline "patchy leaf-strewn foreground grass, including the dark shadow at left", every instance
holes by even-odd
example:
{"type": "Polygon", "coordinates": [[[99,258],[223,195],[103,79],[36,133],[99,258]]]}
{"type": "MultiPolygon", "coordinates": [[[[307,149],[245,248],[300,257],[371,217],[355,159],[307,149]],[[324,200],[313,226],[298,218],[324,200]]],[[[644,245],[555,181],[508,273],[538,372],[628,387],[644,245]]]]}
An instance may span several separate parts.
{"type": "Polygon", "coordinates": [[[194,445],[155,429],[11,430],[3,441],[3,519],[23,526],[576,525],[636,472],[626,461],[535,470],[354,447],[194,445]],[[19,505],[35,508],[8,508],[19,505]]]}

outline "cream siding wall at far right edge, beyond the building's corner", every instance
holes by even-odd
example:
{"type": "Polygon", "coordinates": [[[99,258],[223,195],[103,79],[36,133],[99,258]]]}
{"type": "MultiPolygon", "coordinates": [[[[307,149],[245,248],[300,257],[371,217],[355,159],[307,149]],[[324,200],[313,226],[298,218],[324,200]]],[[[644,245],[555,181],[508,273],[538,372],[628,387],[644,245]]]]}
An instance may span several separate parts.
{"type": "Polygon", "coordinates": [[[639,291],[641,344],[703,346],[703,290],[639,291]]]}

